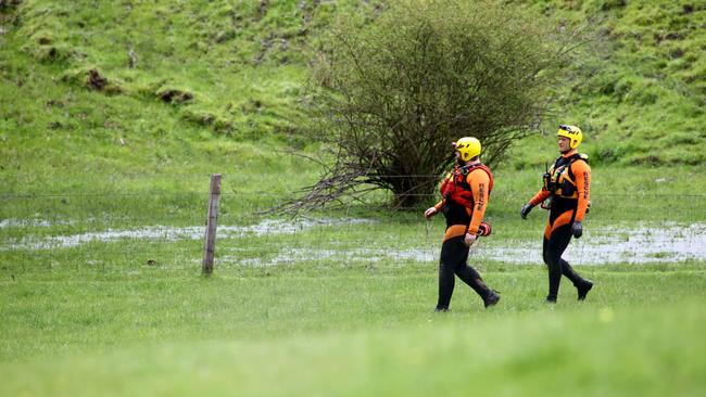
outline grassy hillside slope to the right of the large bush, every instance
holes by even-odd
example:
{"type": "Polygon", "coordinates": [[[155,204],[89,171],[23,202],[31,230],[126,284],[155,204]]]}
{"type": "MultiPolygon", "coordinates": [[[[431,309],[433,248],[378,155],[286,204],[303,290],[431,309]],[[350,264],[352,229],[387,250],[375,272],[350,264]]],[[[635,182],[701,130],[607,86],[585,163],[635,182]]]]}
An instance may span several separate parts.
{"type": "Polygon", "coordinates": [[[563,92],[560,108],[589,132],[594,162],[703,164],[706,159],[706,5],[693,1],[547,1],[584,20],[604,42],[563,92]]]}

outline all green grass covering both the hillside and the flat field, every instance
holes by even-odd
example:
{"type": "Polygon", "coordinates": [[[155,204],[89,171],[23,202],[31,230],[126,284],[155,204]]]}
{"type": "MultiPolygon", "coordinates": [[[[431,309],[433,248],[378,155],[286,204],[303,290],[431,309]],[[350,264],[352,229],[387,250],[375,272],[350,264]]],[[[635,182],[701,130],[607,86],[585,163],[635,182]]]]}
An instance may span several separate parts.
{"type": "MultiPolygon", "coordinates": [[[[621,4],[531,4],[603,33],[544,128],[570,120],[587,133],[594,207],[582,239],[706,223],[706,10],[621,4]]],[[[391,210],[382,193],[327,214],[370,223],[277,233],[297,226],[285,219],[223,239],[209,280],[201,228],[194,239],[27,247],[202,226],[210,172],[224,172],[224,233],[274,221],[257,210],[318,174],[290,155],[320,149],[299,136],[307,51],[338,15],[364,23],[380,10],[0,1],[0,395],[705,394],[703,260],[583,266],[596,290],[579,305],[564,282],[554,309],[542,304],[543,267],[488,261],[497,307],[482,310],[459,284],[452,312],[432,316],[434,259],[375,259],[390,247],[436,256],[442,222],[427,231],[420,212],[391,210]],[[336,249],[346,260],[326,256],[336,249]],[[308,251],[318,257],[300,256],[308,251]]],[[[518,210],[554,141],[519,142],[496,168],[495,235],[479,249],[539,251],[544,214],[521,221],[518,210]]]]}

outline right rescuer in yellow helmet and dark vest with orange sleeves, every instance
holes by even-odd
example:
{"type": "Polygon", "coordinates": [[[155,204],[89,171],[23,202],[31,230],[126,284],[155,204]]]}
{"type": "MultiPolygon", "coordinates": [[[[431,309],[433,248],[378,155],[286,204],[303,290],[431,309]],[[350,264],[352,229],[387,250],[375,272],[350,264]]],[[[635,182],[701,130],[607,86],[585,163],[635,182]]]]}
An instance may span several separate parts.
{"type": "Polygon", "coordinates": [[[562,274],[571,280],[579,300],[585,299],[593,287],[593,282],[581,278],[562,258],[571,236],[579,239],[583,234],[583,217],[591,203],[589,157],[577,150],[583,140],[583,132],[578,127],[560,125],[556,135],[562,154],[544,175],[542,189],[520,210],[522,219],[527,219],[534,206],[550,200],[550,216],[542,244],[542,258],[549,267],[547,303],[556,303],[562,274]]]}

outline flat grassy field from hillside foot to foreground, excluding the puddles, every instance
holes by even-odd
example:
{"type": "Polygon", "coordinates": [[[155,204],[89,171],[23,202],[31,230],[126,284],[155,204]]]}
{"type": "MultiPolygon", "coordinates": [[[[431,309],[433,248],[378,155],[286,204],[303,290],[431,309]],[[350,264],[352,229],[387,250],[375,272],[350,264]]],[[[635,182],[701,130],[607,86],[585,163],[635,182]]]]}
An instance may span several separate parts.
{"type": "MultiPolygon", "coordinates": [[[[706,197],[691,190],[706,182],[698,169],[619,171],[595,170],[581,243],[610,226],[629,238],[634,228],[706,223],[706,197]]],[[[500,305],[484,310],[458,282],[445,315],[432,312],[443,226],[420,210],[373,201],[306,223],[256,215],[276,202],[256,189],[230,193],[215,273],[203,279],[205,175],[181,194],[161,183],[150,194],[138,178],[105,185],[104,195],[8,196],[0,395],[703,394],[703,259],[579,266],[596,283],[589,299],[577,302],[565,280],[559,304],[546,306],[545,269],[532,265],[545,215],[518,216],[539,172],[496,174],[495,234],[478,254],[528,242],[535,252],[520,264],[474,261],[502,292],[500,305]],[[155,226],[194,227],[198,236],[51,240],[155,226]]],[[[255,179],[274,185],[278,177],[255,179]]],[[[275,197],[287,194],[277,189],[275,197]]]]}

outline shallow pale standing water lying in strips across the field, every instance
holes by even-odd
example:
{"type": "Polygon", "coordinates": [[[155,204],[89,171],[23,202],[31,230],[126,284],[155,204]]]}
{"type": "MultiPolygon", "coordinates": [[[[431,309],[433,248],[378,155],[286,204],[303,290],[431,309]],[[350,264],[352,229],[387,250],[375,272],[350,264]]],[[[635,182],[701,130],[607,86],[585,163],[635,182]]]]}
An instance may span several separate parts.
{"type": "MultiPolygon", "coordinates": [[[[243,239],[248,236],[293,234],[314,227],[338,227],[342,225],[374,223],[369,219],[320,219],[287,222],[281,220],[264,220],[252,226],[219,226],[218,240],[243,239]]],[[[0,227],[18,226],[21,222],[4,220],[0,227]]],[[[33,221],[31,226],[45,226],[33,221]]],[[[50,226],[50,225],[46,225],[50,226]]],[[[336,232],[329,233],[336,238],[336,232]]],[[[0,251],[13,249],[55,249],[76,247],[92,242],[117,242],[125,240],[179,241],[202,240],[204,227],[172,228],[164,226],[146,227],[135,230],[108,230],[103,232],[87,232],[72,235],[48,238],[27,236],[10,241],[0,246],[0,251]]],[[[330,258],[345,258],[356,261],[433,261],[439,257],[439,243],[429,246],[421,242],[418,248],[316,248],[280,246],[279,254],[274,258],[261,260],[257,258],[239,258],[237,253],[226,253],[219,256],[222,262],[241,266],[276,266],[301,261],[317,261],[330,258]],[[235,255],[234,255],[235,254],[235,255]]],[[[472,248],[471,262],[492,260],[508,264],[541,264],[541,235],[535,241],[508,242],[505,245],[492,240],[472,248]]],[[[667,225],[660,227],[640,226],[638,228],[604,228],[590,229],[582,239],[573,240],[564,258],[572,265],[601,265],[612,262],[647,264],[676,262],[683,260],[706,260],[706,223],[694,223],[688,227],[667,225]]]]}

